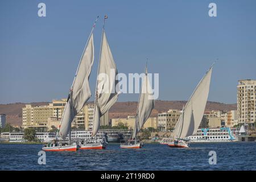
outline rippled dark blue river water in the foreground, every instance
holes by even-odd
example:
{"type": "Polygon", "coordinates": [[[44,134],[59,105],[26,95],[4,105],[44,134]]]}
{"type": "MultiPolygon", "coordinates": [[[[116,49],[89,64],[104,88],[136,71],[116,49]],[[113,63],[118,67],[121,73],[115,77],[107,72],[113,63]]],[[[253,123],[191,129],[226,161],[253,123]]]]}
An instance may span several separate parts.
{"type": "Polygon", "coordinates": [[[142,149],[46,152],[46,165],[38,164],[40,144],[0,144],[0,170],[256,170],[256,142],[200,143],[191,148],[144,144],[142,149]],[[217,152],[210,165],[209,151],[217,152]]]}

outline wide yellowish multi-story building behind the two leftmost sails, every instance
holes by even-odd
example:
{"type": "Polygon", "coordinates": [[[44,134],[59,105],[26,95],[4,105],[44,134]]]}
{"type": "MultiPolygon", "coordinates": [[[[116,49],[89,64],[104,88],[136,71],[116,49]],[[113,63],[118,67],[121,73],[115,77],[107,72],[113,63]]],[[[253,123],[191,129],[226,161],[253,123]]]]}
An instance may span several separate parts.
{"type": "MultiPolygon", "coordinates": [[[[44,130],[51,130],[52,126],[59,128],[61,117],[64,112],[67,100],[53,100],[48,106],[26,105],[22,108],[23,127],[36,127],[44,130]]],[[[87,104],[76,115],[72,126],[79,129],[92,130],[94,105],[87,104]]],[[[109,125],[109,113],[101,118],[101,125],[109,125]]]]}

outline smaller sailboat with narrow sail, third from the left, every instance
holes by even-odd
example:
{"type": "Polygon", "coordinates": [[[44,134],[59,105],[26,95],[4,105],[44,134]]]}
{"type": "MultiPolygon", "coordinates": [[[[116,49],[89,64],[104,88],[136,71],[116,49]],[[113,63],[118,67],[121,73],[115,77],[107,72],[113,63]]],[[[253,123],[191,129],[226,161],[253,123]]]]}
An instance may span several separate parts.
{"type": "Polygon", "coordinates": [[[134,130],[129,140],[121,140],[121,148],[141,148],[142,142],[137,140],[137,134],[142,129],[144,123],[150,117],[151,111],[155,107],[155,100],[152,96],[152,88],[147,74],[147,65],[145,69],[145,75],[142,81],[141,94],[139,96],[139,102],[137,107],[137,113],[134,122],[134,130]]]}

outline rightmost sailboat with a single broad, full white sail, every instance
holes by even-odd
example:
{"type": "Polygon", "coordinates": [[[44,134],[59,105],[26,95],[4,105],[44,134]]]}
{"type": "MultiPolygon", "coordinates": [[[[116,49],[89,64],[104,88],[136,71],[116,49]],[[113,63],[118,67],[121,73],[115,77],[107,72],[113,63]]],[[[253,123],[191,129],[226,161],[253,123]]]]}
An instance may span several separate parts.
{"type": "Polygon", "coordinates": [[[208,100],[212,69],[213,65],[201,79],[187,104],[183,107],[180,118],[171,134],[174,141],[168,142],[168,146],[189,147],[190,142],[186,137],[196,134],[203,118],[205,106],[208,100]]]}

